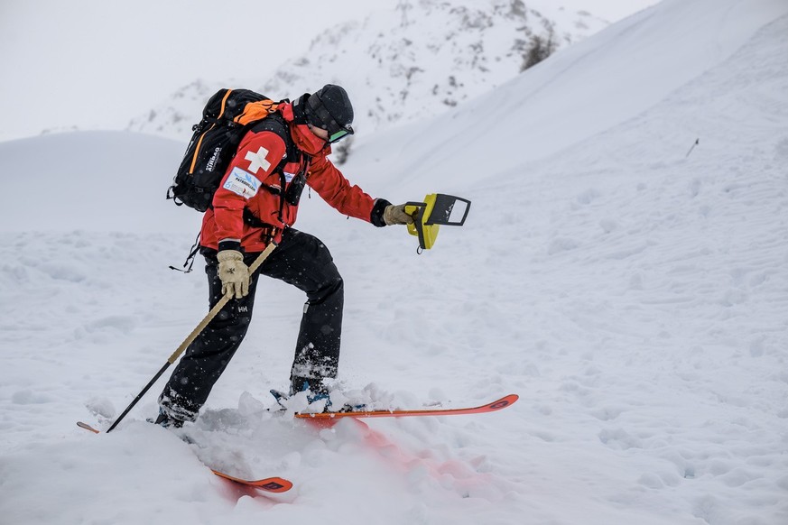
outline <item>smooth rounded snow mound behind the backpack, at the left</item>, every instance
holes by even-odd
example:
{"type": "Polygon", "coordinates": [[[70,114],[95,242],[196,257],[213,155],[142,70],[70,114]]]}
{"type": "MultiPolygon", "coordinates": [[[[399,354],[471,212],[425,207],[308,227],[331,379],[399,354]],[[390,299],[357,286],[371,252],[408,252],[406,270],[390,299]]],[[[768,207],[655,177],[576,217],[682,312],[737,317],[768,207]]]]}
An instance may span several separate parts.
{"type": "Polygon", "coordinates": [[[48,134],[0,143],[0,231],[155,232],[199,227],[167,201],[185,145],[126,132],[48,134]]]}

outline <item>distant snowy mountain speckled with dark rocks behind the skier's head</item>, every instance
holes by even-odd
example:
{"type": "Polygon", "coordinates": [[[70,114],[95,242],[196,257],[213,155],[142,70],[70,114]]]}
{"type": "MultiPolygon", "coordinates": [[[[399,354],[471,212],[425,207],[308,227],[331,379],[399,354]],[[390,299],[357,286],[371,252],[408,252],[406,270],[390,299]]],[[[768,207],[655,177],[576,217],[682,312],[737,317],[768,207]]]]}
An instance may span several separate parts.
{"type": "MultiPolygon", "coordinates": [[[[403,1],[393,11],[321,33],[310,51],[288,58],[271,80],[245,87],[269,97],[292,98],[338,83],[348,89],[357,108],[357,129],[371,134],[438,115],[514,78],[534,38],[562,49],[606,24],[550,2],[403,1]]],[[[224,84],[232,87],[229,80],[224,84]]],[[[129,129],[188,138],[208,97],[224,87],[192,82],[135,118],[129,129]]]]}

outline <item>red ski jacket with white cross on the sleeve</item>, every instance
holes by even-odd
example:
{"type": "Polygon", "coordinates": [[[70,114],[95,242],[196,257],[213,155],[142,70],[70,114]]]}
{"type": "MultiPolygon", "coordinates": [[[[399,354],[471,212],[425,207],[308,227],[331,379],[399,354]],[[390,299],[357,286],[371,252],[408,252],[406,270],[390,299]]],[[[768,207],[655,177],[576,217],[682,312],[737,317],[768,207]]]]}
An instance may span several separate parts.
{"type": "MultiPolygon", "coordinates": [[[[288,162],[283,166],[284,190],[290,187],[295,174],[305,168],[306,185],[317,191],[331,207],[342,214],[373,222],[375,199],[357,186],[350,185],[326,158],[331,152],[330,146],[312,134],[306,124],[293,124],[292,104],[282,106],[279,111],[288,123],[296,147],[308,155],[301,155],[305,166],[299,162],[288,162]]],[[[255,220],[274,226],[273,239],[276,242],[281,240],[283,228],[292,226],[298,214],[298,206],[282,203],[277,194],[283,191],[282,178],[274,171],[285,157],[285,148],[282,137],[271,131],[255,133],[253,130],[244,136],[214,194],[213,208],[203,216],[200,245],[214,250],[243,248],[246,253],[262,252],[268,243],[270,228],[259,224],[251,226],[245,221],[245,208],[247,216],[251,212],[255,220]]]]}

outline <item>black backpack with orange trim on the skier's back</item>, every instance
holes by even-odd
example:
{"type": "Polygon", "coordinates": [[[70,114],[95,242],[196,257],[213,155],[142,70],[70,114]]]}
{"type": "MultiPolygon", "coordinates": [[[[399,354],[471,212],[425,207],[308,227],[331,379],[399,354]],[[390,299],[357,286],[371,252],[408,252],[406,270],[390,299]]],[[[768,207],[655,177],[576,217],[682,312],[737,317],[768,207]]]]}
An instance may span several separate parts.
{"type": "Polygon", "coordinates": [[[241,139],[280,104],[248,89],[219,89],[202,110],[202,120],[191,128],[194,134],[167,198],[206,211],[241,139]]]}

